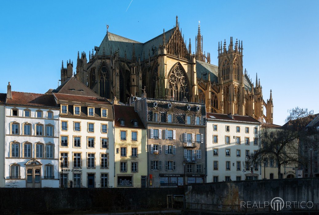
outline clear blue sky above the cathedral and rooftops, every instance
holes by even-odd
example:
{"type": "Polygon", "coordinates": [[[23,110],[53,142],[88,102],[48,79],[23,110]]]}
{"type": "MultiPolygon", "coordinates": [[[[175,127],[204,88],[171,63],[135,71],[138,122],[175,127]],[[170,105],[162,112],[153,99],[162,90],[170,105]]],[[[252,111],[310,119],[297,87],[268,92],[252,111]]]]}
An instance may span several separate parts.
{"type": "MultiPolygon", "coordinates": [[[[175,25],[195,47],[198,20],[204,50],[217,65],[218,41],[243,40],[243,66],[273,91],[274,123],[296,106],[319,112],[319,1],[4,1],[0,8],[0,92],[56,88],[61,61],[76,62],[109,31],[145,42],[175,25]],[[127,10],[127,7],[129,6],[127,10]],[[127,11],[126,11],[127,10],[127,11]]],[[[75,66],[74,66],[75,67],[75,66]]],[[[74,68],[75,70],[75,68],[74,68]]]]}

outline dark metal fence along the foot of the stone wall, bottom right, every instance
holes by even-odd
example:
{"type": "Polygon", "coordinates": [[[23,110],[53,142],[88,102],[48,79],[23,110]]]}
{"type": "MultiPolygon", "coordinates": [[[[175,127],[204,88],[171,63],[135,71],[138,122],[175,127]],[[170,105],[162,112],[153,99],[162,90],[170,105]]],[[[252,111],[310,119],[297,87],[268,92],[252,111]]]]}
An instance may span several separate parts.
{"type": "Polygon", "coordinates": [[[233,204],[233,205],[221,205],[221,204],[201,204],[201,203],[184,203],[185,211],[197,211],[197,212],[212,212],[222,214],[259,214],[259,213],[274,213],[274,212],[319,212],[319,204],[290,204],[284,205],[283,208],[275,208],[265,204],[254,204],[250,203],[247,205],[233,204]]]}

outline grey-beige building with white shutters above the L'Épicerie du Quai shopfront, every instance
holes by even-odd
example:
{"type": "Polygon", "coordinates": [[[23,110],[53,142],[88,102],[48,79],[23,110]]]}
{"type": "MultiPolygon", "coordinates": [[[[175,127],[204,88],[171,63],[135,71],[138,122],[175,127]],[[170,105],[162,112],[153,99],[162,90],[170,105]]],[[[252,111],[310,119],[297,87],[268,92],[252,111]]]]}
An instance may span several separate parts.
{"type": "Polygon", "coordinates": [[[206,110],[187,101],[131,97],[146,125],[148,187],[206,182],[206,110]]]}

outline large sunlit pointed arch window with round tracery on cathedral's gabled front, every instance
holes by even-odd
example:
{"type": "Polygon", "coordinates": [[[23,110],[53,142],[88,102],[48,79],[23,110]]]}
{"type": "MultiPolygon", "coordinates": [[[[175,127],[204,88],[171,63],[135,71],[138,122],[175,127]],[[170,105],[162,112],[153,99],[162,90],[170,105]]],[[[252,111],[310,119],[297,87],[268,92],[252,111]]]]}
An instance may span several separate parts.
{"type": "Polygon", "coordinates": [[[189,84],[185,72],[179,65],[176,65],[168,78],[168,88],[170,96],[175,100],[182,101],[184,97],[189,100],[189,84]]]}

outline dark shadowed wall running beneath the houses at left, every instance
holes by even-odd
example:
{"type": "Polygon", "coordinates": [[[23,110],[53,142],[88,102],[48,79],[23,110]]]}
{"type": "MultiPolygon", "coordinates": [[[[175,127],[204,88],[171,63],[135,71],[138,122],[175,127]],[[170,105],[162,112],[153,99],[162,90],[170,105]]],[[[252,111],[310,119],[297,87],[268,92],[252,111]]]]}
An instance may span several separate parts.
{"type": "Polygon", "coordinates": [[[183,188],[0,188],[0,210],[166,204],[183,188]]]}

